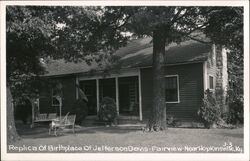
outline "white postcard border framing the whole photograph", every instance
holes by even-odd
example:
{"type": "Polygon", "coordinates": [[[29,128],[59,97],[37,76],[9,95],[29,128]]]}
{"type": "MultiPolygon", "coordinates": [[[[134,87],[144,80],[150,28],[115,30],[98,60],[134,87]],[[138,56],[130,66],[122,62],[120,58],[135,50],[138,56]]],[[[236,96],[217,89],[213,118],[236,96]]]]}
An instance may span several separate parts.
{"type": "Polygon", "coordinates": [[[249,2],[239,1],[1,1],[1,155],[3,160],[249,160],[249,2]],[[166,6],[244,6],[244,153],[243,154],[155,154],[155,153],[7,153],[6,143],[6,5],[166,5],[166,6]],[[3,21],[4,20],[4,21],[3,21]]]}

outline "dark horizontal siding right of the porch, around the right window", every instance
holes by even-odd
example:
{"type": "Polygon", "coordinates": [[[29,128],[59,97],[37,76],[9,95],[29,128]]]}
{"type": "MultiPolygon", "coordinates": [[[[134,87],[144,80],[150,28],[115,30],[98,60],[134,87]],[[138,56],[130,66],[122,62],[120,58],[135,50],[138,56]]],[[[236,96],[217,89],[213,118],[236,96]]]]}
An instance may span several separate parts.
{"type": "MultiPolygon", "coordinates": [[[[166,103],[167,115],[177,119],[197,119],[203,98],[203,64],[168,66],[166,75],[179,76],[180,103],[166,103]]],[[[142,112],[148,118],[152,108],[152,68],[141,69],[142,112]]]]}

